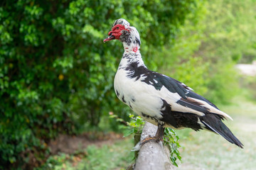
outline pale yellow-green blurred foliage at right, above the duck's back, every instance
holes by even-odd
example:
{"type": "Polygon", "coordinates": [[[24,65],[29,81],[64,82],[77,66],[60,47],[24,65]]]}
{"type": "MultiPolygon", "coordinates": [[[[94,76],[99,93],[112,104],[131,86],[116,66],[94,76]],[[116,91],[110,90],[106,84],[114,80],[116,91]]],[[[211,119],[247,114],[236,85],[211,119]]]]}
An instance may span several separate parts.
{"type": "Polygon", "coordinates": [[[174,44],[166,45],[157,58],[161,72],[213,103],[229,103],[238,93],[234,64],[251,62],[256,56],[255,10],[252,0],[199,3],[174,44]]]}

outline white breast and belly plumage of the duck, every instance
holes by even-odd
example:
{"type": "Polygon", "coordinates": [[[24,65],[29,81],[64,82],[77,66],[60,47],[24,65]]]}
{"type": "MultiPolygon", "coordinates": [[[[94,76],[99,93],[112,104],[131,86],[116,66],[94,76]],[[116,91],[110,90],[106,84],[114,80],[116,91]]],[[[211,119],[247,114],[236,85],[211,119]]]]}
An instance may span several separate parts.
{"type": "MultiPolygon", "coordinates": [[[[119,69],[114,77],[114,91],[120,101],[132,108],[138,115],[149,115],[154,118],[162,118],[161,107],[163,101],[161,97],[167,96],[167,89],[162,88],[157,91],[154,86],[143,82],[143,75],[138,79],[127,77],[127,71],[119,69]]],[[[178,100],[180,96],[175,96],[178,100]]]]}

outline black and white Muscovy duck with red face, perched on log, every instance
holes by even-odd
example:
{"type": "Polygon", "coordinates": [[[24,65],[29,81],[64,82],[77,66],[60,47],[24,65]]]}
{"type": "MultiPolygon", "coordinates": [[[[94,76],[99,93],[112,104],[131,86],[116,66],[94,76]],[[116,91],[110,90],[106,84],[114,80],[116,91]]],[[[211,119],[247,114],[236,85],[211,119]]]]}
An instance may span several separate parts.
{"type": "Polygon", "coordinates": [[[146,68],[139,52],[141,41],[136,28],[120,18],[114,21],[108,35],[104,42],[120,40],[124,46],[114,77],[117,97],[144,120],[158,126],[156,136],[144,142],[162,140],[164,128],[191,128],[210,130],[243,147],[222,122],[224,118],[232,120],[228,114],[180,81],[146,68]]]}

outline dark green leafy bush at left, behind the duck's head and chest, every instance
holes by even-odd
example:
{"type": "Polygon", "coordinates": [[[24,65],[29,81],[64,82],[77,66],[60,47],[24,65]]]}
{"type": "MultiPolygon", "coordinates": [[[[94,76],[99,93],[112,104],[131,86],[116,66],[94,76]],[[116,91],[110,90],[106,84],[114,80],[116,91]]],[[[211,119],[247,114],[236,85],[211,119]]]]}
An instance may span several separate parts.
{"type": "Polygon", "coordinates": [[[197,3],[1,1],[0,168],[43,162],[47,155],[37,155],[50,138],[95,126],[110,111],[127,118],[112,90],[122,44],[102,43],[111,24],[126,18],[142,35],[142,55],[151,56],[174,40],[197,3]]]}

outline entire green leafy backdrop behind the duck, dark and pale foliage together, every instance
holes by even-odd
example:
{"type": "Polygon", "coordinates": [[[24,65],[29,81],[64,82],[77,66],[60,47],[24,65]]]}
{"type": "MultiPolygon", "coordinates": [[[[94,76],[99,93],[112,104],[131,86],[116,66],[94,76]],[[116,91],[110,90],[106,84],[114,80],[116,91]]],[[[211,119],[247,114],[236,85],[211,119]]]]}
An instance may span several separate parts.
{"type": "Polygon", "coordinates": [[[139,30],[149,69],[230,103],[234,64],[255,60],[255,11],[254,0],[1,1],[0,169],[40,166],[51,139],[102,120],[118,131],[110,112],[129,120],[113,91],[122,44],[102,43],[117,18],[139,30]]]}

